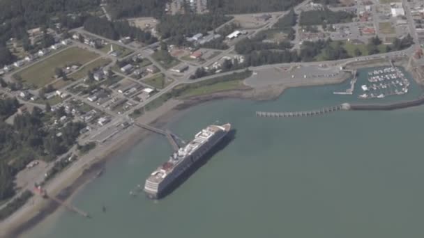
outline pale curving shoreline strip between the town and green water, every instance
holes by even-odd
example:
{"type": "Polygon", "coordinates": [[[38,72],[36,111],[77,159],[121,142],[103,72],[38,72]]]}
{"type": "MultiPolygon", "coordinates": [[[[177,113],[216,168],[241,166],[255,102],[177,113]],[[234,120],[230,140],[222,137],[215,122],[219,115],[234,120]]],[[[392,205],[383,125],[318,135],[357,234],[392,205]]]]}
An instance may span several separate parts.
{"type": "MultiPolygon", "coordinates": [[[[366,65],[365,67],[376,67],[379,65],[387,64],[388,63],[385,61],[375,63],[375,65],[366,65]]],[[[363,66],[357,67],[364,68],[363,66]]],[[[403,63],[402,67],[404,67],[403,63]]],[[[408,72],[410,72],[411,74],[414,73],[409,70],[408,72]]],[[[350,76],[340,77],[338,79],[323,79],[320,81],[310,82],[298,81],[295,83],[283,83],[279,85],[264,86],[262,88],[250,88],[248,86],[243,85],[237,89],[222,90],[220,92],[215,92],[208,95],[183,97],[176,100],[171,99],[162,104],[160,107],[158,107],[158,109],[144,113],[144,115],[137,118],[137,120],[152,125],[154,127],[163,127],[170,120],[174,119],[175,113],[189,109],[192,106],[197,106],[205,102],[210,102],[212,100],[224,100],[229,98],[239,98],[244,100],[276,100],[287,88],[340,84],[349,78],[350,76]]],[[[418,82],[418,79],[416,79],[416,77],[414,77],[414,79],[418,82]]],[[[419,85],[422,85],[422,83],[419,85]]],[[[86,164],[84,164],[81,170],[76,170],[74,173],[71,173],[70,175],[68,175],[68,177],[64,178],[65,180],[68,180],[66,181],[68,182],[68,184],[59,184],[57,188],[52,191],[52,194],[56,194],[58,198],[61,198],[63,200],[72,199],[73,196],[77,195],[78,191],[84,188],[84,185],[96,179],[96,173],[100,169],[104,168],[105,163],[107,163],[107,161],[116,157],[116,154],[121,154],[121,152],[128,150],[128,148],[132,148],[134,145],[137,145],[138,143],[142,142],[144,139],[148,138],[150,134],[152,134],[151,132],[147,132],[143,129],[130,131],[128,130],[128,128],[122,132],[119,132],[118,135],[112,137],[112,140],[108,140],[105,143],[98,145],[98,147],[96,147],[93,151],[84,154],[83,157],[89,156],[89,154],[96,155],[92,161],[88,161],[86,164]],[[106,150],[101,150],[105,147],[110,148],[107,148],[106,150]]],[[[67,168],[66,170],[69,170],[69,168],[67,168]]],[[[64,170],[62,173],[65,173],[66,170],[64,170]]],[[[59,177],[58,179],[63,180],[62,177],[59,177]]],[[[34,226],[45,221],[45,219],[51,214],[54,214],[58,208],[59,205],[56,205],[56,203],[50,200],[42,200],[41,202],[39,202],[38,206],[25,205],[24,207],[22,207],[22,209],[20,209],[24,211],[24,214],[22,214],[23,217],[18,216],[17,218],[14,218],[17,221],[14,221],[13,227],[6,227],[5,229],[0,229],[4,232],[4,235],[0,234],[0,237],[20,237],[20,235],[24,235],[26,232],[29,232],[34,226]],[[36,209],[38,209],[38,212],[34,211],[36,209]],[[24,219],[25,216],[29,216],[29,219],[24,219]]],[[[20,212],[20,210],[18,210],[17,212],[20,212]]],[[[0,225],[0,228],[2,225],[3,222],[0,225]]]]}

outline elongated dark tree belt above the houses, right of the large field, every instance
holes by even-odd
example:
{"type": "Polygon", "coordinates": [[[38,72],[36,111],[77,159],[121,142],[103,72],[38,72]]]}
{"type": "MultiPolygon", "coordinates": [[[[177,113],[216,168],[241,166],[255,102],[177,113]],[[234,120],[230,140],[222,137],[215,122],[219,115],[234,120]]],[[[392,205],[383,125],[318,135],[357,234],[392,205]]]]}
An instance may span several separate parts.
{"type": "Polygon", "coordinates": [[[130,38],[146,44],[151,44],[158,40],[151,35],[150,32],[145,32],[135,26],[130,26],[126,21],[109,22],[107,19],[100,17],[89,17],[86,19],[84,22],[84,29],[112,40],[118,40],[126,36],[130,36],[130,38]]]}

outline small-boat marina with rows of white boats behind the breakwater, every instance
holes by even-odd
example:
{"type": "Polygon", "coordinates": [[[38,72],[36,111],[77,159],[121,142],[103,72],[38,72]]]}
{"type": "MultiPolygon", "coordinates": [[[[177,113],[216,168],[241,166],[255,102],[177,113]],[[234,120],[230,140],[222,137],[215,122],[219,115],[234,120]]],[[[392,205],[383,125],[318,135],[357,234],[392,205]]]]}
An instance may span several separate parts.
{"type": "Polygon", "coordinates": [[[368,72],[368,83],[361,86],[360,99],[384,98],[404,95],[409,90],[409,79],[398,67],[386,67],[368,72]]]}

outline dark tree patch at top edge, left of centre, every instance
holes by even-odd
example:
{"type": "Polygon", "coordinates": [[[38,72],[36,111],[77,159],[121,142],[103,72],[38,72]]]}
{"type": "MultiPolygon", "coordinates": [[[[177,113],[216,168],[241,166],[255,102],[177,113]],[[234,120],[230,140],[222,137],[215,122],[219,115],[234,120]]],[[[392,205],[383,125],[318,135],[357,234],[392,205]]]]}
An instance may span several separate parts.
{"type": "Polygon", "coordinates": [[[165,14],[169,0],[107,0],[107,12],[114,18],[157,17],[165,14]]]}

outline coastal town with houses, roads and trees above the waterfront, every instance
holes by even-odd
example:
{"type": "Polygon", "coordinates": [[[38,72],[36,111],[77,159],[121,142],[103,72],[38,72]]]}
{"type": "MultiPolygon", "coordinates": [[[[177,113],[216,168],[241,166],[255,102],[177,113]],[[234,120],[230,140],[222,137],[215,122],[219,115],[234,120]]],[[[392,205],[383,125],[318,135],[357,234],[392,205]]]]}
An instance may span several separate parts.
{"type": "Polygon", "coordinates": [[[177,137],[156,127],[185,102],[271,99],[347,79],[351,89],[334,94],[379,100],[407,95],[400,68],[424,83],[423,1],[305,0],[229,13],[209,1],[163,1],[142,17],[95,1],[22,33],[0,17],[0,177],[10,180],[0,182],[0,237],[19,235],[50,202],[79,211],[57,195],[135,134],[177,137]],[[384,68],[355,86],[356,70],[372,65],[384,68]]]}

